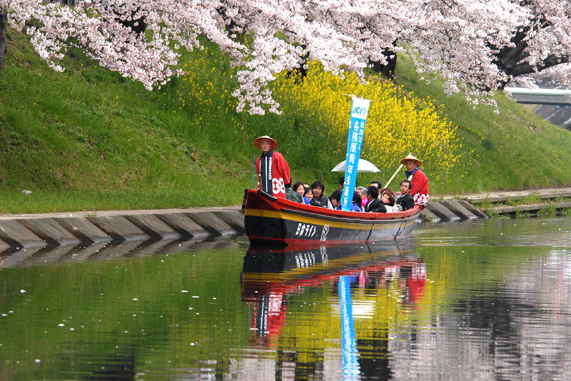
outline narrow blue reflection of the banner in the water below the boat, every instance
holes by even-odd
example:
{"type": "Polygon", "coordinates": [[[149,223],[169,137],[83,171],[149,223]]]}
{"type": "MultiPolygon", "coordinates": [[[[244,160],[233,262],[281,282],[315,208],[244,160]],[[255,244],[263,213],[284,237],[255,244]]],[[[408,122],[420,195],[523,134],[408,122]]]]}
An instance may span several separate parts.
{"type": "Polygon", "coordinates": [[[359,379],[359,362],[355,325],[353,323],[353,305],[349,277],[339,278],[339,303],[341,306],[341,357],[343,358],[343,380],[359,379]]]}

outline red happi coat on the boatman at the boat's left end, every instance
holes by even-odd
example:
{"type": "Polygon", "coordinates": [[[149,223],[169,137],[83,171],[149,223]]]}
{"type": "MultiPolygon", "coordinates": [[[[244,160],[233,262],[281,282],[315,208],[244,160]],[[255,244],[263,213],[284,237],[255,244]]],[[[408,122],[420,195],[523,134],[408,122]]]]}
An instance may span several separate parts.
{"type": "Polygon", "coordinates": [[[258,189],[285,198],[285,186],[291,185],[290,167],[283,155],[276,151],[263,153],[256,161],[258,172],[258,189]]]}

